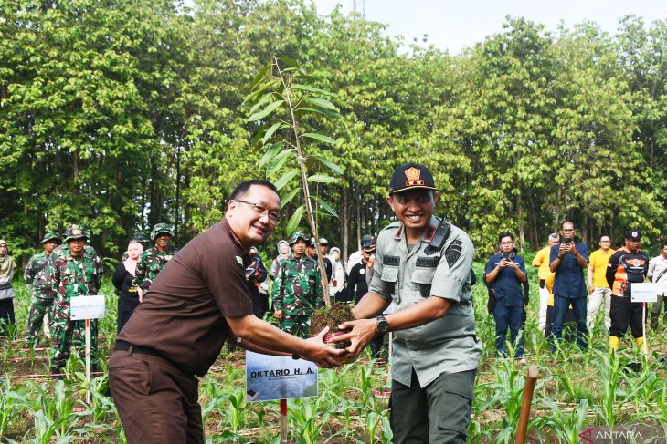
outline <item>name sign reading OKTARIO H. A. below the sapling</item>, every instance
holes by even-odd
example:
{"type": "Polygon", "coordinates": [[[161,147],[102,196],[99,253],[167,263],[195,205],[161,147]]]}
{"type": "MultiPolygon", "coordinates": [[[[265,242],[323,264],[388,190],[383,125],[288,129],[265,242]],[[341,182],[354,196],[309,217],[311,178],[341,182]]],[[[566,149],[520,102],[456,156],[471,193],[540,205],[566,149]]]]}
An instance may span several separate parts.
{"type": "Polygon", "coordinates": [[[317,396],[317,366],[291,356],[246,351],[246,401],[317,396]]]}

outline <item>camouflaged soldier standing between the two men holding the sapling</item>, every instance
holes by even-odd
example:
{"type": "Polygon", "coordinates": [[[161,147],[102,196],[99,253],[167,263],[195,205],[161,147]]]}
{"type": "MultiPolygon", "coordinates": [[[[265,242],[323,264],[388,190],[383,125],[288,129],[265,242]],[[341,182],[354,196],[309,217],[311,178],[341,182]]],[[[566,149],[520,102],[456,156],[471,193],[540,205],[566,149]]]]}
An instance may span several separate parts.
{"type": "Polygon", "coordinates": [[[322,276],[317,262],[305,253],[306,237],[294,232],[290,256],[281,263],[273,283],[274,316],[281,330],[308,337],[312,312],[324,305],[322,276]]]}

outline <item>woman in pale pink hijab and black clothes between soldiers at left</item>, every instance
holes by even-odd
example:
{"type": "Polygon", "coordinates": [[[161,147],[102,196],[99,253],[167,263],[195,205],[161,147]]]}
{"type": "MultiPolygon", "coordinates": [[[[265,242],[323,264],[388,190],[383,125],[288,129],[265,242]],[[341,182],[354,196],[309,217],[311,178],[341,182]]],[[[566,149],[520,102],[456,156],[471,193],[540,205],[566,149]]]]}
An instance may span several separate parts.
{"type": "Polygon", "coordinates": [[[141,289],[132,285],[132,279],[136,274],[137,261],[143,253],[141,243],[131,241],[127,246],[127,259],[118,264],[113,272],[111,282],[119,291],[118,298],[118,332],[121,333],[122,326],[130,319],[134,309],[142,302],[141,289]]]}

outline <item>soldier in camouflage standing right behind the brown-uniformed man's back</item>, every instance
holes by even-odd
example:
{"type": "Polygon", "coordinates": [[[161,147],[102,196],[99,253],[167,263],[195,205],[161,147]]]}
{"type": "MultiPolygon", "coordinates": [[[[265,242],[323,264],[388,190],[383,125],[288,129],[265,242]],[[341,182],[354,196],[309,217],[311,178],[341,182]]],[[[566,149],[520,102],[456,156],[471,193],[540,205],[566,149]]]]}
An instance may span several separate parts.
{"type": "Polygon", "coordinates": [[[178,253],[178,249],[170,244],[173,236],[174,231],[167,223],[156,223],[153,227],[151,239],[154,240],[155,245],[139,257],[133,281],[134,285],[143,290],[143,294],[151,287],[164,265],[178,253]]]}

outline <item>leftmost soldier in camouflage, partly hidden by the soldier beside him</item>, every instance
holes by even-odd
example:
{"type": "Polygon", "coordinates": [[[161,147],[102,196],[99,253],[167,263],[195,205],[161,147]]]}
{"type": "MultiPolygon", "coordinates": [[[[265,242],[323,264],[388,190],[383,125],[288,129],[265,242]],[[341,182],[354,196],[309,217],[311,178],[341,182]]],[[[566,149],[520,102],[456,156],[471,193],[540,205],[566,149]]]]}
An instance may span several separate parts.
{"type": "Polygon", "coordinates": [[[23,274],[31,293],[26,328],[27,346],[37,345],[37,335],[44,323],[44,315],[48,315],[49,327],[53,323],[53,300],[56,294],[51,288],[51,280],[48,277],[48,258],[58,243],[60,243],[58,232],[47,232],[42,239],[44,251],[30,258],[23,274]]]}

